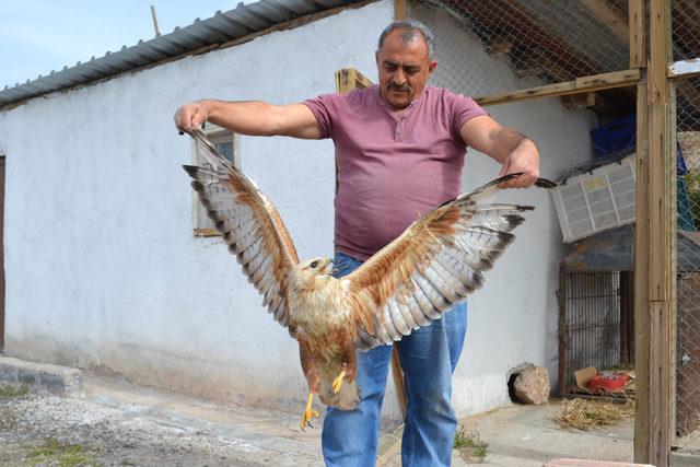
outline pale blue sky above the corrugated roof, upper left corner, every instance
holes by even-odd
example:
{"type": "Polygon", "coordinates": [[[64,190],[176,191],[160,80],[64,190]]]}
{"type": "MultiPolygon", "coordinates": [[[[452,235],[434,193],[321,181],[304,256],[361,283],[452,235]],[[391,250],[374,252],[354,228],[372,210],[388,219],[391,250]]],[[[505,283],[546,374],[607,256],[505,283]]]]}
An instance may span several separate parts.
{"type": "Polygon", "coordinates": [[[240,1],[0,0],[0,91],[152,38],[151,4],[165,34],[240,1]]]}

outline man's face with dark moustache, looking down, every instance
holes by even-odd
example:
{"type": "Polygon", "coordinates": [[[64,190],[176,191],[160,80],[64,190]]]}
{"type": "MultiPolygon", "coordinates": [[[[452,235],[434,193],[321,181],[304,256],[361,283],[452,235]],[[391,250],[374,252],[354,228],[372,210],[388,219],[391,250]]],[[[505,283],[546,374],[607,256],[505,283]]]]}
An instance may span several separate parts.
{"type": "Polygon", "coordinates": [[[394,30],[384,37],[376,51],[382,98],[394,108],[406,108],[423,92],[428,78],[438,63],[428,59],[428,45],[420,33],[408,44],[401,39],[405,30],[394,30]]]}

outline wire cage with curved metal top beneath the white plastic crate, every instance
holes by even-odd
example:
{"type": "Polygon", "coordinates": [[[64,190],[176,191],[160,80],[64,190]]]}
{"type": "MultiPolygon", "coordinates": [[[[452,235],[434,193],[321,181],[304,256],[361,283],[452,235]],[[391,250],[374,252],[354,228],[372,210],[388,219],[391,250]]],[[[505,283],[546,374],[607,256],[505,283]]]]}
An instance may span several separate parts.
{"type": "Polygon", "coordinates": [[[574,372],[632,369],[634,273],[631,226],[574,245],[560,266],[559,394],[579,394],[574,372]]]}

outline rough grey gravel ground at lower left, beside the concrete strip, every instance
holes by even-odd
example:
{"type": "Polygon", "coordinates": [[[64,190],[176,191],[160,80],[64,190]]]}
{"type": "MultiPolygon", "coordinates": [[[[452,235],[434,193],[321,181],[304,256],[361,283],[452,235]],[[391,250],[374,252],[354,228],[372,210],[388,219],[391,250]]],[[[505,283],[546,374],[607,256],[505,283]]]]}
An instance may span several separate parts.
{"type": "MultiPolygon", "coordinates": [[[[1,466],[319,465],[313,455],[261,448],[187,420],[158,419],[139,405],[11,394],[0,396],[1,466]]],[[[237,436],[236,436],[237,437],[237,436]]]]}

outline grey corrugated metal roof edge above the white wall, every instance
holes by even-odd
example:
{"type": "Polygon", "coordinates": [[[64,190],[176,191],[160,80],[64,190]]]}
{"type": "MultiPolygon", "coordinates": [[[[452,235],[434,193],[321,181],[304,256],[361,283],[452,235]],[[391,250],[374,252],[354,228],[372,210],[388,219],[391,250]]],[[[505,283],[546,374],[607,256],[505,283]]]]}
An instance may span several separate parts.
{"type": "Polygon", "coordinates": [[[139,40],[135,46],[106,52],[104,57],[92,57],[90,61],[13,87],[0,91],[0,108],[42,94],[65,90],[77,84],[113,77],[147,65],[158,63],[205,46],[223,44],[277,24],[330,10],[358,0],[260,0],[256,3],[238,5],[230,11],[217,13],[207,20],[196,19],[185,27],[175,27],[172,33],[150,40],[139,40]]]}

